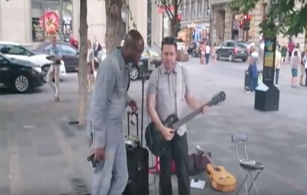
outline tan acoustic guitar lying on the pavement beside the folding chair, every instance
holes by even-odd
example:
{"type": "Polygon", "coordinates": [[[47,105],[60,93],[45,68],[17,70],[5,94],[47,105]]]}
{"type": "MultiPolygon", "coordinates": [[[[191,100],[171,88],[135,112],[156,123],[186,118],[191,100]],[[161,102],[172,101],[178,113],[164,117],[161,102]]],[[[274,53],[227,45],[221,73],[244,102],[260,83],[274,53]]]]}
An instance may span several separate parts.
{"type": "MultiPolygon", "coordinates": [[[[199,146],[196,150],[202,152],[199,146]]],[[[223,166],[215,166],[211,160],[211,157],[206,153],[202,152],[207,159],[209,164],[207,164],[207,176],[211,180],[211,185],[216,191],[220,192],[233,192],[236,188],[236,178],[225,170],[223,166]]]]}

